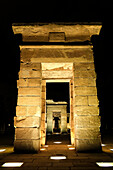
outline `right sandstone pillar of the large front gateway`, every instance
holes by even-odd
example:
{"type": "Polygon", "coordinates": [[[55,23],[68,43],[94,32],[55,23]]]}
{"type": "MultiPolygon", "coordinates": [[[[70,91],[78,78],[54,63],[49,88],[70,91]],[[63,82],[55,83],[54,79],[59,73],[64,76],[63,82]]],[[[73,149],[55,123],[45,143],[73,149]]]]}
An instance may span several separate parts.
{"type": "Polygon", "coordinates": [[[74,97],[76,150],[100,151],[100,117],[94,62],[74,63],[74,97]]]}

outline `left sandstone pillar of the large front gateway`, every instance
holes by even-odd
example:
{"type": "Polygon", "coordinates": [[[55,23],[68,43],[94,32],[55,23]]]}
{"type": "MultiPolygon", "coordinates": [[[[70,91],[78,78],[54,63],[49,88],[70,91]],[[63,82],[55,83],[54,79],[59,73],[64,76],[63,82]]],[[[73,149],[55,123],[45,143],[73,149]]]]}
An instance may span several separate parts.
{"type": "Polygon", "coordinates": [[[41,63],[20,64],[14,118],[14,150],[17,152],[37,152],[40,149],[41,77],[41,63]]]}

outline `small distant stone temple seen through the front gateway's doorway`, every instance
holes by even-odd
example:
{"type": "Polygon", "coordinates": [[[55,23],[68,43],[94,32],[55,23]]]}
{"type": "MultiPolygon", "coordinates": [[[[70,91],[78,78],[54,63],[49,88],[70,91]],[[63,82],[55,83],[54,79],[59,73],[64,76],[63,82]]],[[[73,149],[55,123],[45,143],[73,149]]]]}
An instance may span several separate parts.
{"type": "Polygon", "coordinates": [[[67,132],[67,102],[47,102],[47,132],[67,132]]]}

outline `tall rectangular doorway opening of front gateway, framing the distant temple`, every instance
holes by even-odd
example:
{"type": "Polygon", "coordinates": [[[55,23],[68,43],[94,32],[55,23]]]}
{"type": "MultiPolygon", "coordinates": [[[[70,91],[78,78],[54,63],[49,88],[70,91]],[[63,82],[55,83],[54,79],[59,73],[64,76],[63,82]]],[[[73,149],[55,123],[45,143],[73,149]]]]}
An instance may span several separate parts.
{"type": "Polygon", "coordinates": [[[46,82],[46,143],[70,144],[70,84],[46,82]]]}

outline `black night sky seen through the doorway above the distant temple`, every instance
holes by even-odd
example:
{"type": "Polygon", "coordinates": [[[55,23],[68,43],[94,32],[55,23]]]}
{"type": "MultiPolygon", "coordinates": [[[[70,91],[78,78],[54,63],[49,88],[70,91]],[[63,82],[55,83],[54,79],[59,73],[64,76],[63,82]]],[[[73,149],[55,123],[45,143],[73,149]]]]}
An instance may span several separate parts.
{"type": "Polygon", "coordinates": [[[46,100],[67,102],[67,113],[70,113],[69,83],[46,83],[46,100]]]}

